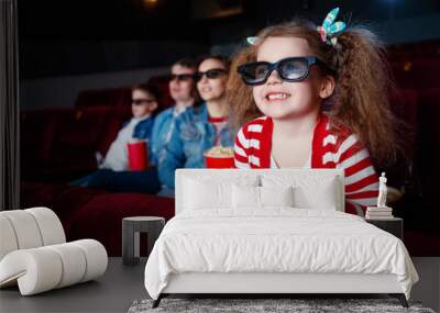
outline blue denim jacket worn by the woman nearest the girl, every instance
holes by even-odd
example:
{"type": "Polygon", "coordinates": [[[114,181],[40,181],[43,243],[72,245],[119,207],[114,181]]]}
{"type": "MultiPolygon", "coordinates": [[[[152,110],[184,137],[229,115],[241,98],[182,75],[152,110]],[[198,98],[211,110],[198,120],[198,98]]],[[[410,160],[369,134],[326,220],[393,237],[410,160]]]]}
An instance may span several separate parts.
{"type": "MultiPolygon", "coordinates": [[[[220,132],[220,143],[233,146],[234,134],[231,125],[220,132]]],[[[164,187],[174,189],[174,174],[177,168],[204,168],[204,154],[216,142],[216,127],[208,122],[206,104],[188,108],[177,120],[169,142],[158,158],[158,178],[164,187]]]]}

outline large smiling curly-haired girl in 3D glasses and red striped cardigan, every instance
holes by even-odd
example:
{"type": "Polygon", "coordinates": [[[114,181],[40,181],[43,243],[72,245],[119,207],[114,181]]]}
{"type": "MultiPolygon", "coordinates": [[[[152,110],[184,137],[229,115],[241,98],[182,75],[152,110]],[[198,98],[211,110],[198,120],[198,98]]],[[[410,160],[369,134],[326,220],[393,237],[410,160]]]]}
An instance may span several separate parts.
{"type": "Polygon", "coordinates": [[[334,22],[338,11],[319,27],[266,27],[235,55],[229,103],[237,124],[248,123],[234,158],[238,168],[344,169],[345,211],[363,215],[378,194],[372,159],[396,157],[396,123],[383,46],[369,30],[334,22]]]}

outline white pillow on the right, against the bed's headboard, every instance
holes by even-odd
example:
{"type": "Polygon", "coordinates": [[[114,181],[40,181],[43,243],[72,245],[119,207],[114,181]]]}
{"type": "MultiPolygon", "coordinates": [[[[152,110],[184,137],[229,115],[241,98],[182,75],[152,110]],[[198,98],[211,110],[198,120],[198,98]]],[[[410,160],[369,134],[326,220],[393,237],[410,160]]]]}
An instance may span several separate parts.
{"type": "Polygon", "coordinates": [[[263,187],[293,187],[294,205],[300,209],[338,210],[340,202],[336,177],[262,177],[263,187]]]}

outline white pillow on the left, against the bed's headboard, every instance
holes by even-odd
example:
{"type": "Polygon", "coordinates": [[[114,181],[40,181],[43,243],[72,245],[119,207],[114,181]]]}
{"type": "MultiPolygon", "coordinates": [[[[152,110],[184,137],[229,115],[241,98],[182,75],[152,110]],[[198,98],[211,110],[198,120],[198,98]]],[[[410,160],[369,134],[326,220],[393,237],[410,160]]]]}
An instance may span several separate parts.
{"type": "Polygon", "coordinates": [[[231,209],[232,185],[258,186],[257,176],[237,176],[217,179],[186,177],[184,180],[184,210],[231,209]]]}

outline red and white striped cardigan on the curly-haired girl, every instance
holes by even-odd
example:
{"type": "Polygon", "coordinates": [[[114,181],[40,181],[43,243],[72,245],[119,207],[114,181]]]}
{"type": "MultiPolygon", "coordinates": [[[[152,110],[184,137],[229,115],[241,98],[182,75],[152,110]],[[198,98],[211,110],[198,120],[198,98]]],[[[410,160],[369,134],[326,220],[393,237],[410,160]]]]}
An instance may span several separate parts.
{"type": "MultiPolygon", "coordinates": [[[[273,121],[263,116],[244,124],[235,137],[237,168],[271,168],[273,121]]],[[[345,212],[363,214],[376,205],[378,179],[366,148],[344,128],[330,132],[329,118],[321,114],[314,131],[311,168],[341,168],[345,174],[345,212]]]]}

